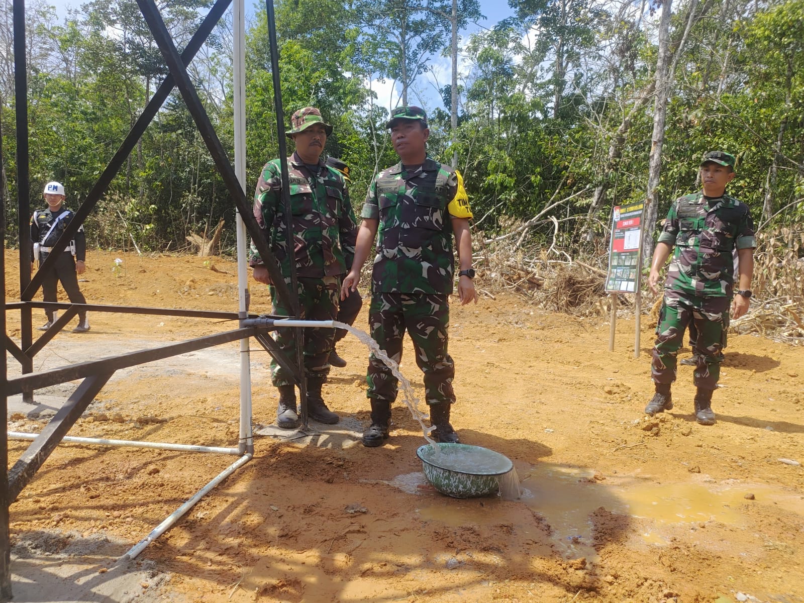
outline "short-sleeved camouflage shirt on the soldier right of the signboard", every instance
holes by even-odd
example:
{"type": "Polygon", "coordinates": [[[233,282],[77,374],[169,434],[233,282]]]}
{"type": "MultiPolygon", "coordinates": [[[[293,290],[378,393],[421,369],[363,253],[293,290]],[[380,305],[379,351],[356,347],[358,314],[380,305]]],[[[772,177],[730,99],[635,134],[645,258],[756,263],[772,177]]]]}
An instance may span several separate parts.
{"type": "Polygon", "coordinates": [[[731,297],[732,251],[757,246],[745,203],[728,195],[706,199],[701,192],[673,202],[658,242],[675,245],[665,289],[701,297],[731,297]]]}

